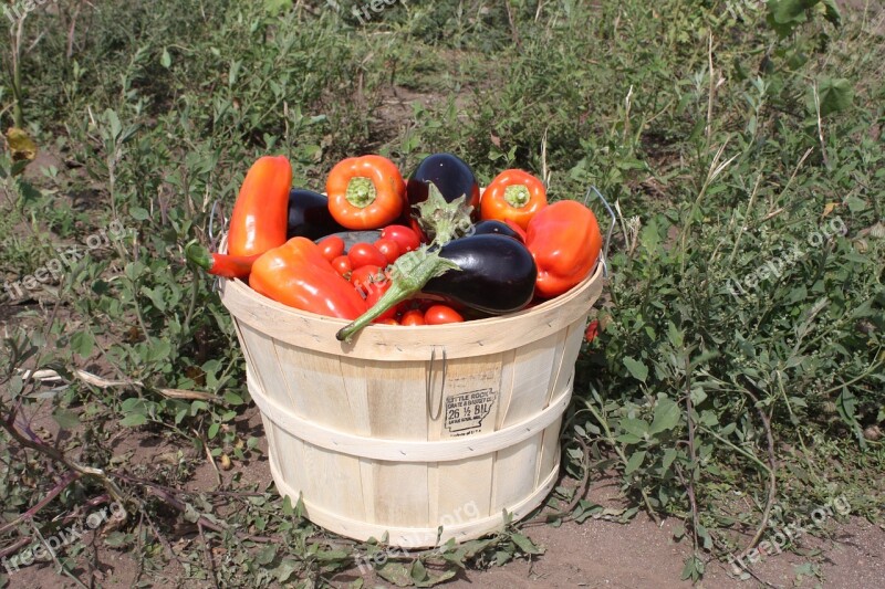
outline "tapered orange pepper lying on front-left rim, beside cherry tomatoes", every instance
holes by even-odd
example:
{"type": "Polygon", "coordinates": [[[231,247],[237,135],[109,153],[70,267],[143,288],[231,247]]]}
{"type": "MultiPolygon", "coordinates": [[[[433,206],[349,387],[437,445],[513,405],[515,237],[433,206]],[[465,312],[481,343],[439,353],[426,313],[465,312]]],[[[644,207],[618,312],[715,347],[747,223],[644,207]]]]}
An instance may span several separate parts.
{"type": "Polygon", "coordinates": [[[368,308],[306,238],[292,238],[256,260],[249,285],[283,305],[327,317],[355,319],[368,308]]]}

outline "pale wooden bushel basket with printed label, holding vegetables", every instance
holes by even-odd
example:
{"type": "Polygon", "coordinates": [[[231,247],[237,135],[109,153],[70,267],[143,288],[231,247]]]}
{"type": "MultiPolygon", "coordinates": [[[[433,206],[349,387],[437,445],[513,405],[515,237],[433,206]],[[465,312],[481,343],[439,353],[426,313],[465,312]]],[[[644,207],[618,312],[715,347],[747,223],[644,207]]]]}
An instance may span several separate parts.
{"type": "Polygon", "coordinates": [[[570,292],[503,317],[371,325],[287,307],[220,281],[268,435],[277,488],[315,524],[409,548],[520,519],[556,482],[601,262],[570,292]],[[438,528],[442,526],[441,535],[438,528]]]}

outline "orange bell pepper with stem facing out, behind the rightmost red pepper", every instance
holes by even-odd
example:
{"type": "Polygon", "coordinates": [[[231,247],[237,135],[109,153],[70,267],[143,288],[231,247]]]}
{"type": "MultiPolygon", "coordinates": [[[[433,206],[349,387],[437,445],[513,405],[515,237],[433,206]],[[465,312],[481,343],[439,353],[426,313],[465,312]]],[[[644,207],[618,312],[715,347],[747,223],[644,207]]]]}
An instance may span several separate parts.
{"type": "Polygon", "coordinates": [[[529,227],[532,217],[546,207],[546,189],[543,182],[522,170],[504,170],[499,173],[479,203],[480,218],[485,220],[512,221],[522,229],[529,227]]]}

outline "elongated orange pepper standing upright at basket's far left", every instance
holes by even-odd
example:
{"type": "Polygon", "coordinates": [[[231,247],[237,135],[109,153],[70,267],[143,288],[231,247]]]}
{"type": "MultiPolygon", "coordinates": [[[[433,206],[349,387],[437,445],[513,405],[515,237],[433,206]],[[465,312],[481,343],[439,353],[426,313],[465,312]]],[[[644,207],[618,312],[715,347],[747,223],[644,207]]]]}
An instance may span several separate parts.
{"type": "Polygon", "coordinates": [[[257,255],[285,243],[292,166],[284,156],[258,159],[240,187],[230,214],[228,253],[257,255]]]}

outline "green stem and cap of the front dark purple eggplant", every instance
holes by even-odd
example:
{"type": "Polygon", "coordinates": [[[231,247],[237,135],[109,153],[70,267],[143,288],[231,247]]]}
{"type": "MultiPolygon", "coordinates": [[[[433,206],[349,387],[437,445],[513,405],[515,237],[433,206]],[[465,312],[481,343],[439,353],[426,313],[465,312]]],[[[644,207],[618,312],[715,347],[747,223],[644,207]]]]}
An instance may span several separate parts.
{"type": "Polygon", "coordinates": [[[340,341],[350,341],[351,337],[382,316],[388,308],[415,296],[430,278],[435,278],[449,270],[460,271],[455,262],[440,257],[437,252],[429,252],[427,248],[408,252],[394,262],[391,272],[391,287],[371,309],[357,317],[353,323],[343,327],[335,337],[340,341]]]}

